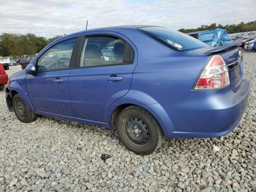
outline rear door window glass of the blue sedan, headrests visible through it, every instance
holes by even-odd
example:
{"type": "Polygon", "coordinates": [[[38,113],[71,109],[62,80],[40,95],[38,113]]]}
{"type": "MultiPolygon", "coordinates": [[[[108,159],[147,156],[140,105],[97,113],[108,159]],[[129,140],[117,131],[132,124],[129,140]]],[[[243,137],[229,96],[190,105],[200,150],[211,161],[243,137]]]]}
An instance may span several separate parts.
{"type": "Polygon", "coordinates": [[[126,43],[110,36],[86,37],[80,55],[80,67],[122,64],[126,43]]]}

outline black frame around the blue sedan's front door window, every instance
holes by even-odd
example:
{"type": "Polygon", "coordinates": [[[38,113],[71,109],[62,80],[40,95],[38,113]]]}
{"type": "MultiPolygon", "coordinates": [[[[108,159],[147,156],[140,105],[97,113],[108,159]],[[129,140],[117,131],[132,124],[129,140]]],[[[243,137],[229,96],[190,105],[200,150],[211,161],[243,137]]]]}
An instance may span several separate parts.
{"type": "Polygon", "coordinates": [[[71,54],[71,57],[70,57],[70,64],[68,66],[68,68],[63,68],[63,69],[53,69],[53,70],[47,70],[47,71],[36,71],[35,73],[45,73],[45,72],[52,72],[52,71],[62,71],[62,70],[70,70],[73,68],[74,66],[74,60],[75,60],[75,56],[76,56],[76,51],[77,51],[77,48],[78,48],[78,43],[80,42],[80,38],[81,38],[81,35],[80,36],[75,36],[75,37],[72,37],[72,38],[67,38],[67,39],[63,39],[61,41],[58,41],[56,42],[55,44],[52,44],[52,46],[48,47],[46,50],[44,50],[44,52],[42,52],[42,54],[40,54],[40,56],[38,58],[36,58],[36,64],[35,64],[35,67],[37,68],[38,66],[38,60],[48,51],[50,50],[52,47],[64,42],[64,41],[68,41],[68,40],[71,40],[71,39],[75,39],[76,38],[76,42],[74,44],[74,49],[72,51],[72,54],[71,54]]]}

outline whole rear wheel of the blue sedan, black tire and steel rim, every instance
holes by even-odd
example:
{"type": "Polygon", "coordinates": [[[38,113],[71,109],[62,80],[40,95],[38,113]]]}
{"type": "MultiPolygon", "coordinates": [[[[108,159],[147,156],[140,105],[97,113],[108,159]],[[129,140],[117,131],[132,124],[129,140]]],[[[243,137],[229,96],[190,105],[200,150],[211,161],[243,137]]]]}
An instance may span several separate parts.
{"type": "Polygon", "coordinates": [[[148,155],[158,149],[164,140],[162,128],[147,110],[129,106],[120,112],[116,129],[122,144],[139,155],[148,155]]]}

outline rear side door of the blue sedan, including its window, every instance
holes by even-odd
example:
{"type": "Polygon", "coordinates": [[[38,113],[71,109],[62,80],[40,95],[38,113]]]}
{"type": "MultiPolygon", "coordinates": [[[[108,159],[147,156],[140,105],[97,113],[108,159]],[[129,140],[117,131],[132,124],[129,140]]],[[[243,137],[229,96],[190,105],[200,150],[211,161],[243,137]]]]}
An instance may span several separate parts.
{"type": "MultiPolygon", "coordinates": [[[[100,33],[100,32],[98,32],[100,33]]],[[[110,105],[130,89],[137,64],[134,44],[120,34],[88,33],[69,75],[71,103],[76,117],[106,122],[110,105]]]]}

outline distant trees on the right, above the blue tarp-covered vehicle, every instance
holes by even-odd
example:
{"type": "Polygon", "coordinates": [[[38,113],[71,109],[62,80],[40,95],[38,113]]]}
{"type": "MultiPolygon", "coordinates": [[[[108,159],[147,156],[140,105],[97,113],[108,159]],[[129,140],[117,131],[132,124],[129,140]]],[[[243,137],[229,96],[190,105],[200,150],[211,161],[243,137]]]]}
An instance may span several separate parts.
{"type": "Polygon", "coordinates": [[[240,24],[232,24],[232,25],[225,25],[225,26],[222,26],[222,24],[218,24],[218,26],[217,26],[216,23],[213,23],[210,26],[202,25],[201,27],[198,27],[196,29],[181,28],[178,31],[183,32],[183,33],[190,33],[190,32],[203,31],[203,30],[214,30],[216,28],[226,29],[228,34],[256,31],[256,20],[252,21],[252,22],[248,22],[248,23],[240,22],[240,24]]]}

